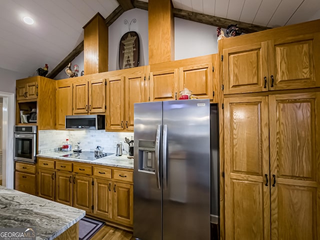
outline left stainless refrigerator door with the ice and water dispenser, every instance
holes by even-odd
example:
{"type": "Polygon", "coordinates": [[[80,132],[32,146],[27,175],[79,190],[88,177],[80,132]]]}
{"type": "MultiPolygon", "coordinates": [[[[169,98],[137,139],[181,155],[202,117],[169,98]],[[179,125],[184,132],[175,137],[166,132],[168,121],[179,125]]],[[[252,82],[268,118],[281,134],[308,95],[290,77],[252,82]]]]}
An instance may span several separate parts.
{"type": "Polygon", "coordinates": [[[133,236],[161,239],[162,102],[134,104],[133,236]]]}

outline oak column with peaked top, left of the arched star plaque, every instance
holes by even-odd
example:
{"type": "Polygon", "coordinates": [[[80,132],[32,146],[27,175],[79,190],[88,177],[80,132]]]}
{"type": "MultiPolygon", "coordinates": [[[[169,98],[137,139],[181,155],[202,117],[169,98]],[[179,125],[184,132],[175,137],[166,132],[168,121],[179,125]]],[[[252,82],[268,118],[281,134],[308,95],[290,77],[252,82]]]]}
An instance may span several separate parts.
{"type": "Polygon", "coordinates": [[[83,26],[84,74],[108,70],[108,27],[98,12],[83,26]]]}

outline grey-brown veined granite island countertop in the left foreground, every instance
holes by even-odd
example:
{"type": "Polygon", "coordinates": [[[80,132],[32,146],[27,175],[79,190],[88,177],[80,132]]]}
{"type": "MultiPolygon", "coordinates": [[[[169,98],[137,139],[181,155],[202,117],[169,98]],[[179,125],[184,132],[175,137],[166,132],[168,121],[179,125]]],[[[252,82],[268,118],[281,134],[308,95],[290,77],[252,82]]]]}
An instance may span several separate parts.
{"type": "Polygon", "coordinates": [[[51,240],[84,215],[84,210],[0,186],[0,228],[34,227],[37,240],[51,240]]]}

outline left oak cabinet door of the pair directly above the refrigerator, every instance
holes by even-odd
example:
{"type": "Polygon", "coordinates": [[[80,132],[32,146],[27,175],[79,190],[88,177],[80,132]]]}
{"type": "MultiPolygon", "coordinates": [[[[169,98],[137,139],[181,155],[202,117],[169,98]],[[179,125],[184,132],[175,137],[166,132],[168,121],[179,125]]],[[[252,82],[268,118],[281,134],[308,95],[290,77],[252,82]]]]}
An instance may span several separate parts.
{"type": "Polygon", "coordinates": [[[150,72],[150,101],[178,98],[178,69],[150,72]]]}

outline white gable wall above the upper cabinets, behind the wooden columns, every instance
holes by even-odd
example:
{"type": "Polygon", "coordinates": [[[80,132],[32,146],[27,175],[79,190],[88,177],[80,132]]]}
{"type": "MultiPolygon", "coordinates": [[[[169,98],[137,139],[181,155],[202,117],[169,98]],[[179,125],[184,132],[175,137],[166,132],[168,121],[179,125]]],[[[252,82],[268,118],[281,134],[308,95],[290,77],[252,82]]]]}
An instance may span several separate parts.
{"type": "MultiPolygon", "coordinates": [[[[139,66],[148,65],[148,12],[146,10],[134,8],[122,13],[109,26],[109,49],[108,49],[108,70],[119,69],[119,43],[122,35],[129,31],[128,24],[124,24],[124,19],[130,23],[130,30],[136,31],[140,40],[140,63],[139,66]]],[[[194,56],[202,56],[216,53],[217,36],[216,26],[202,24],[174,17],[174,59],[184,59],[194,56]]],[[[222,29],[225,32],[225,29],[222,29]]],[[[72,61],[73,65],[79,65],[79,73],[83,69],[83,52],[72,61]]],[[[63,79],[67,75],[64,69],[54,79],[63,79]]]]}

